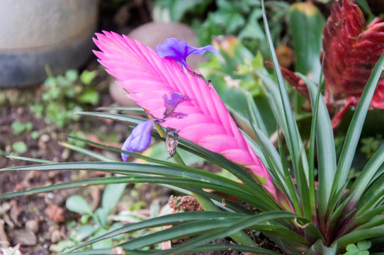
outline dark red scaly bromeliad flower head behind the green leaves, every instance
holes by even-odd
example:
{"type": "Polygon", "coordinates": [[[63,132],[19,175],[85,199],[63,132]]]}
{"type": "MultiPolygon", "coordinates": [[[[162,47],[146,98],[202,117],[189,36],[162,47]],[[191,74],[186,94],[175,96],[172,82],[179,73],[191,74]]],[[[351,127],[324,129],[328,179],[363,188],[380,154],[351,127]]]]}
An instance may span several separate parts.
{"type": "MultiPolygon", "coordinates": [[[[303,5],[310,9],[308,4],[303,5]]],[[[296,27],[298,26],[293,26],[296,27]]],[[[303,46],[302,41],[303,36],[296,40],[298,47],[303,46]]],[[[317,47],[317,44],[310,43],[310,47],[317,47]]],[[[332,115],[332,125],[337,128],[349,109],[358,105],[371,70],[384,52],[384,18],[374,18],[367,24],[361,9],[353,0],[336,1],[324,24],[322,50],[324,101],[332,115]]],[[[305,60],[304,57],[303,59],[305,60]]],[[[310,62],[300,60],[299,63],[298,72],[307,74],[310,71],[310,62]]],[[[283,74],[290,84],[310,99],[303,79],[287,69],[283,69],[283,74]]],[[[315,73],[312,72],[312,77],[313,74],[315,73]]],[[[384,108],[384,79],[379,81],[373,94],[371,108],[384,108]]]]}

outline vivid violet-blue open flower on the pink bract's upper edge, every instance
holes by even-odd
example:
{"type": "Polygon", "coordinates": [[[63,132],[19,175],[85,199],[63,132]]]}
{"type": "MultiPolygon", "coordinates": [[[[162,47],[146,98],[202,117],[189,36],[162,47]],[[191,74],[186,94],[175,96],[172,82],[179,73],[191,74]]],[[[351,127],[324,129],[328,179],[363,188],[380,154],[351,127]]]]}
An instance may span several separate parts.
{"type": "Polygon", "coordinates": [[[160,57],[170,57],[172,60],[179,62],[181,67],[186,70],[186,57],[188,55],[203,55],[205,52],[210,51],[218,54],[218,50],[212,45],[205,47],[193,47],[186,43],[186,41],[179,41],[176,38],[166,39],[162,45],[157,45],[156,52],[160,57]]]}

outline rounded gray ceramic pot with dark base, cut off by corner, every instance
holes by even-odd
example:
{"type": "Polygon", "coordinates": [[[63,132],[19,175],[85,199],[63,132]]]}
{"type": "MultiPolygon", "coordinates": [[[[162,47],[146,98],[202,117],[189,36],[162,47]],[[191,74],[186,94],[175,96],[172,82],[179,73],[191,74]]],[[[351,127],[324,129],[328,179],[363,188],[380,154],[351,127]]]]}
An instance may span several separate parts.
{"type": "Polygon", "coordinates": [[[98,0],[1,0],[0,87],[39,84],[91,55],[98,0]]]}

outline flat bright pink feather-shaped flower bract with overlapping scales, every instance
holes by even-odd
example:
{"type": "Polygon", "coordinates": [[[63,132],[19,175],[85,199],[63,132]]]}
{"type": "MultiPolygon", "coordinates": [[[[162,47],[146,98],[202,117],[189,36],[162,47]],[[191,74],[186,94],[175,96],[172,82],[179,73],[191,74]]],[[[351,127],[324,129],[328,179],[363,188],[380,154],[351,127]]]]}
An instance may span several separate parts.
{"type": "Polygon", "coordinates": [[[177,111],[186,114],[185,118],[166,118],[160,125],[179,130],[180,137],[251,170],[264,188],[276,195],[269,172],[244,140],[213,86],[128,36],[106,31],[96,35],[94,42],[101,52],[94,53],[99,62],[119,80],[129,97],[154,118],[164,117],[164,95],[176,92],[191,98],[177,105],[177,111]]]}

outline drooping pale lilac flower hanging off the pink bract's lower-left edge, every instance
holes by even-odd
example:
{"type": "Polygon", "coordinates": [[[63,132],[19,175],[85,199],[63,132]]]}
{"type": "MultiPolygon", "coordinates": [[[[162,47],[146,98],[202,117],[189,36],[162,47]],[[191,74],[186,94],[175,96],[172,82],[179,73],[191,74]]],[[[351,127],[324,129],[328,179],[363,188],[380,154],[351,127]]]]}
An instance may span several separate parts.
{"type": "MultiPolygon", "coordinates": [[[[142,152],[143,150],[147,149],[152,139],[151,130],[154,128],[154,124],[157,123],[159,123],[159,120],[150,119],[137,125],[132,130],[127,140],[125,140],[121,149],[127,152],[142,152]]],[[[128,154],[121,152],[121,158],[123,159],[123,162],[126,162],[128,157],[130,157],[128,154]]]]}

